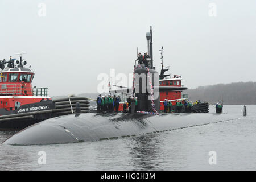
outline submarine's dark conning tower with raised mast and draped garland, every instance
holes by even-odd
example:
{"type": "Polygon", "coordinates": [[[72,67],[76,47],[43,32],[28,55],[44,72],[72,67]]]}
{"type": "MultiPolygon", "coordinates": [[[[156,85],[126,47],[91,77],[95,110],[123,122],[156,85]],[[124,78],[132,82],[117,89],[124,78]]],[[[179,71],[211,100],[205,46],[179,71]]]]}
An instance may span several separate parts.
{"type": "Polygon", "coordinates": [[[153,52],[152,52],[152,27],[150,32],[146,33],[148,55],[147,67],[145,64],[139,64],[137,60],[134,65],[134,89],[135,97],[138,98],[138,110],[148,112],[159,112],[160,98],[159,98],[159,73],[155,71],[153,66],[153,52]]]}

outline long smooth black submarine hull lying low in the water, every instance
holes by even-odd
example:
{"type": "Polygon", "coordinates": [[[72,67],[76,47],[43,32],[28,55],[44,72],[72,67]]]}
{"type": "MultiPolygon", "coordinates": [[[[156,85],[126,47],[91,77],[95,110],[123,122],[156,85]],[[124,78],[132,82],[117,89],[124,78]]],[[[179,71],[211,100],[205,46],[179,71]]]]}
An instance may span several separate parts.
{"type": "Polygon", "coordinates": [[[229,114],[95,114],[51,118],[20,131],[4,144],[31,145],[97,141],[236,119],[229,114]]]}

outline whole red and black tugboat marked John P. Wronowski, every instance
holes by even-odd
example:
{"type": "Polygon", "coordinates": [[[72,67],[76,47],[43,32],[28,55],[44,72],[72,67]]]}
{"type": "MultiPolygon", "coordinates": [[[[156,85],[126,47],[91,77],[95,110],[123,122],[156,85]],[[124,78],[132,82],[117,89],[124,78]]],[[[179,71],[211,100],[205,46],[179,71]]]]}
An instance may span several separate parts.
{"type": "Polygon", "coordinates": [[[82,113],[89,111],[88,98],[52,100],[48,88],[33,88],[35,73],[24,67],[27,63],[22,55],[19,53],[19,60],[0,60],[0,129],[24,129],[48,118],[72,114],[76,102],[80,103],[82,113]]]}

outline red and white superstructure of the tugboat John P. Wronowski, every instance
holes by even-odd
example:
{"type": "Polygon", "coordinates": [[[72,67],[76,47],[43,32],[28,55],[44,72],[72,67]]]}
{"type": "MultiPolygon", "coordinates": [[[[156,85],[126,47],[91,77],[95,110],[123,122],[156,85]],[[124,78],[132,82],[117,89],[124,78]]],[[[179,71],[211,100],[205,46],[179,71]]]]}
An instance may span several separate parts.
{"type": "Polygon", "coordinates": [[[32,87],[35,72],[23,67],[27,63],[22,60],[22,54],[19,55],[20,60],[10,57],[8,62],[2,61],[2,65],[8,63],[8,66],[0,71],[0,109],[11,111],[21,105],[51,100],[48,88],[32,87]]]}

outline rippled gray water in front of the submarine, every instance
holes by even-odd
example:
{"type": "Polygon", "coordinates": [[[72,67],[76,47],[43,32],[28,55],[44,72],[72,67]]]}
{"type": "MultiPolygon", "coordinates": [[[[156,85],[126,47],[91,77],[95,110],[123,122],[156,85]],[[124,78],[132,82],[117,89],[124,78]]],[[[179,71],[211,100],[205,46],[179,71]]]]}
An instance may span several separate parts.
{"type": "MultiPolygon", "coordinates": [[[[210,106],[210,111],[214,108],[210,106]]],[[[256,105],[226,105],[240,119],[164,133],[46,146],[0,145],[0,170],[255,170],[256,105]],[[39,151],[46,164],[39,164],[39,151]],[[209,151],[216,152],[210,165],[209,151]]],[[[14,131],[0,131],[0,143],[14,131]]]]}

